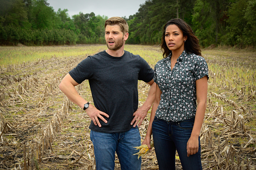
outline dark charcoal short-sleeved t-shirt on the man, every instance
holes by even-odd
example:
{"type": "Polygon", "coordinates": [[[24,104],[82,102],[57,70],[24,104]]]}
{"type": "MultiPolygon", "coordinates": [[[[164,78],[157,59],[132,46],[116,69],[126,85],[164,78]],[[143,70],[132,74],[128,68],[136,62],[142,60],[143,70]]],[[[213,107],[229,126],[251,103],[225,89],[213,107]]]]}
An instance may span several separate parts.
{"type": "Polygon", "coordinates": [[[124,132],[132,128],[133,113],[138,109],[138,80],[149,82],[154,70],[139,55],[124,51],[121,57],[113,57],[100,52],[88,56],[69,74],[77,82],[88,79],[94,106],[109,115],[100,118],[95,126],[91,121],[89,128],[98,132],[124,132]]]}

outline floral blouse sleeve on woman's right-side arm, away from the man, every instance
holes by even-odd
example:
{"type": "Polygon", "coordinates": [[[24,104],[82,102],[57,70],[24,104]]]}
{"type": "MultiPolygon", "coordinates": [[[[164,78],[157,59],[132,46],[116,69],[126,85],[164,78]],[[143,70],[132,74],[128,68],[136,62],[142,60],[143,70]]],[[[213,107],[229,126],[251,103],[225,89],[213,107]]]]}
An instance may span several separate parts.
{"type": "Polygon", "coordinates": [[[208,65],[205,59],[201,56],[195,58],[195,79],[201,79],[205,75],[207,75],[207,80],[209,79],[208,76],[208,65]]]}

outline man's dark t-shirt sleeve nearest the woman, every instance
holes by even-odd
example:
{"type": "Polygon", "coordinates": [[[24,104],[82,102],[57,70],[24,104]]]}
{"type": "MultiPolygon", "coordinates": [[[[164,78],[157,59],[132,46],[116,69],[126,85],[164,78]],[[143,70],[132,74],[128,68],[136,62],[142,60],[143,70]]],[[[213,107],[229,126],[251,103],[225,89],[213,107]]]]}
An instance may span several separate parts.
{"type": "Polygon", "coordinates": [[[141,59],[141,67],[140,67],[138,80],[142,80],[147,83],[153,79],[154,70],[148,65],[146,60],[144,60],[142,57],[140,57],[140,59],[141,59]]]}

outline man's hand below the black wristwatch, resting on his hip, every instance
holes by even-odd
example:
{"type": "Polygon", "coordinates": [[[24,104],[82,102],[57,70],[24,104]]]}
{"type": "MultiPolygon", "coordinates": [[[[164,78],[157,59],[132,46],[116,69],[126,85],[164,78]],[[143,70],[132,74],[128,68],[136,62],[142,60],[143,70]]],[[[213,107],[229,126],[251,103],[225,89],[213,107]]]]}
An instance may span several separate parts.
{"type": "Polygon", "coordinates": [[[104,119],[103,116],[109,117],[107,113],[104,113],[100,110],[98,110],[96,107],[94,107],[92,104],[89,104],[89,107],[87,109],[85,109],[87,115],[92,119],[93,123],[97,126],[97,124],[99,125],[99,127],[101,127],[100,121],[98,119],[98,117],[105,123],[108,123],[108,121],[106,119],[104,119]]]}

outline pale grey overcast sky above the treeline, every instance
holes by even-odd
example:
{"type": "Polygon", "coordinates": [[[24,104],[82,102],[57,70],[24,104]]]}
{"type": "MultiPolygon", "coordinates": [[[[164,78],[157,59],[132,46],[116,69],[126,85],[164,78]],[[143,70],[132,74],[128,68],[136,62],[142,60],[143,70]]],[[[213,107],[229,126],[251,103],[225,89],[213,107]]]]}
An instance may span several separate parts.
{"type": "Polygon", "coordinates": [[[84,14],[94,12],[100,16],[110,17],[126,17],[138,12],[140,4],[144,4],[146,0],[47,0],[54,11],[68,9],[68,15],[83,12],[84,14]]]}

